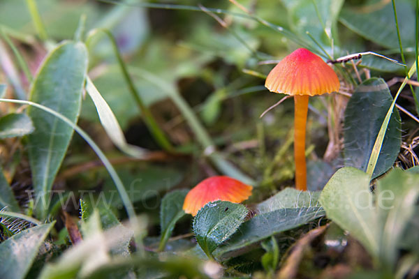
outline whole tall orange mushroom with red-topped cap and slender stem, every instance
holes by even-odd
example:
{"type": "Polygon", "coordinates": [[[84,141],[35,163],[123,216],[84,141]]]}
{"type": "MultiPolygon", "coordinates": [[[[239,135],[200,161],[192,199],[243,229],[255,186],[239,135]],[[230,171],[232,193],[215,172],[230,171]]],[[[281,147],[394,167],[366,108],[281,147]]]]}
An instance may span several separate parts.
{"type": "Polygon", "coordinates": [[[265,87],[271,92],[294,96],[295,188],[307,190],[304,151],[309,96],[339,91],[339,79],[319,56],[300,48],[270,71],[265,87]]]}

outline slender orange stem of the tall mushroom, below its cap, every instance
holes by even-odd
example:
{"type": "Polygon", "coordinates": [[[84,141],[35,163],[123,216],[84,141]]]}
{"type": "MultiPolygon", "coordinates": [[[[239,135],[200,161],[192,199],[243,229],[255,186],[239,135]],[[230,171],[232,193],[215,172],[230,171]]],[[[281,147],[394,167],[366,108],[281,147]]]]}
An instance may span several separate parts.
{"type": "Polygon", "coordinates": [[[295,188],[307,190],[307,167],[305,160],[305,132],[307,111],[309,110],[309,96],[294,96],[294,160],[295,160],[295,188]]]}

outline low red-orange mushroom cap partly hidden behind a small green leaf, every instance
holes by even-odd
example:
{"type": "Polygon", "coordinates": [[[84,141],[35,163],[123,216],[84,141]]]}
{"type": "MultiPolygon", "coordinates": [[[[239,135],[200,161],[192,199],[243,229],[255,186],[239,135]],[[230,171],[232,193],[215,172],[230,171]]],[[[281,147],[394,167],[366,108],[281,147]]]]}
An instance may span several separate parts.
{"type": "Polygon", "coordinates": [[[208,202],[217,200],[243,202],[251,195],[252,186],[228,176],[212,176],[204,179],[186,195],[183,209],[186,213],[196,213],[208,202]]]}

